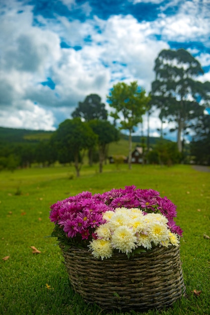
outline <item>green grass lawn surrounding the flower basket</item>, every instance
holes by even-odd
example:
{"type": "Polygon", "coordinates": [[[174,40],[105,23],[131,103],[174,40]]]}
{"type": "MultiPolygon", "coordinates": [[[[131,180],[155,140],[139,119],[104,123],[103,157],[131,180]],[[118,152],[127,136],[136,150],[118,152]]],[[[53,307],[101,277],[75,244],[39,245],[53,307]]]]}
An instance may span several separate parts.
{"type": "Polygon", "coordinates": [[[176,222],[184,229],[180,252],[187,297],[169,309],[143,314],[208,314],[210,240],[203,234],[210,236],[210,173],[183,165],[134,165],[131,171],[128,165],[122,165],[120,170],[107,165],[102,174],[97,169],[84,166],[80,178],[74,176],[71,180],[73,167],[0,173],[0,313],[107,314],[97,305],[86,304],[72,291],[55,239],[45,238],[53,229],[49,207],[84,190],[101,193],[113,187],[136,185],[158,190],[162,197],[171,199],[177,205],[176,222]],[[41,254],[32,254],[31,246],[41,254]],[[10,258],[3,261],[6,256],[10,258]],[[191,293],[194,289],[202,290],[199,297],[191,293]]]}

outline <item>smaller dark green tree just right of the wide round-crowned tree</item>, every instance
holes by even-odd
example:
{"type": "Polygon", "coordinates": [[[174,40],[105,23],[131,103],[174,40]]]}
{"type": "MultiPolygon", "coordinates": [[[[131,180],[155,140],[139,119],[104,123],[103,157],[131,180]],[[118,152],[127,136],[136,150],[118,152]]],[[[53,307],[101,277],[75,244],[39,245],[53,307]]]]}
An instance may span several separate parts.
{"type": "Polygon", "coordinates": [[[109,121],[91,120],[89,122],[93,132],[98,136],[99,173],[102,173],[103,161],[106,158],[107,146],[119,140],[119,132],[109,121]]]}

